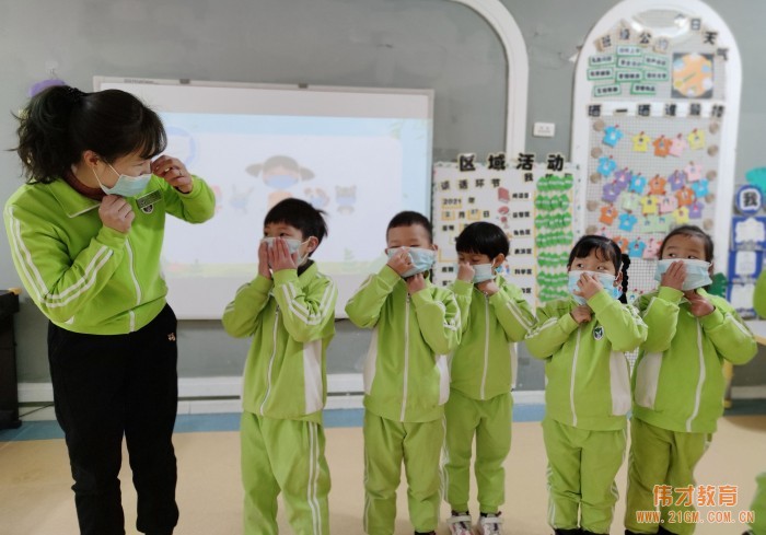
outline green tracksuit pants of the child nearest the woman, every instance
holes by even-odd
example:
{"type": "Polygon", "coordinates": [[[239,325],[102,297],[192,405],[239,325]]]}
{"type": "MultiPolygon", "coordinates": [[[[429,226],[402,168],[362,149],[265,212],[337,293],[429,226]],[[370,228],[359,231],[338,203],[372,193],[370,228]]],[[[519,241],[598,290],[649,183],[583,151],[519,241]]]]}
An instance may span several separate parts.
{"type": "Polygon", "coordinates": [[[276,535],[277,495],[298,535],[328,535],[329,468],[320,423],[242,414],[245,535],[276,535]]]}

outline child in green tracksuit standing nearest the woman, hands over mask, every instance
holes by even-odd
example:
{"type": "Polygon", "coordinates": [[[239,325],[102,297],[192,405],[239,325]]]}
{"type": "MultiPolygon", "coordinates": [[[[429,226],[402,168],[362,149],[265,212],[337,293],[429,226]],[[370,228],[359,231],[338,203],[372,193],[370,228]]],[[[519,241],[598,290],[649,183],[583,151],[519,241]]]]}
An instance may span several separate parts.
{"type": "Polygon", "coordinates": [[[337,290],[310,259],[326,235],[323,212],[277,203],[264,220],[258,275],[223,313],[227,333],[253,337],[240,432],[247,535],[278,533],[280,491],[294,533],[329,533],[322,408],[337,290]]]}

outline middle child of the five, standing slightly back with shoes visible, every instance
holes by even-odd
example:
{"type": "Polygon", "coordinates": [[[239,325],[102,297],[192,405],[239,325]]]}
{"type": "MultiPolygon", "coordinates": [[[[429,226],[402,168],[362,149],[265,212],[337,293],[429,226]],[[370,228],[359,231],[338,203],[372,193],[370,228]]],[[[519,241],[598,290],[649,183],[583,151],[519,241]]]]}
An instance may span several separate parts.
{"type": "Polygon", "coordinates": [[[451,361],[444,444],[445,499],[453,535],[472,535],[468,513],[471,449],[478,486],[478,533],[501,532],[503,462],[511,449],[511,362],[513,342],[534,327],[534,313],[521,290],[496,276],[508,256],[508,237],[497,225],[472,223],[457,236],[457,280],[452,286],[461,310],[461,342],[451,361]]]}

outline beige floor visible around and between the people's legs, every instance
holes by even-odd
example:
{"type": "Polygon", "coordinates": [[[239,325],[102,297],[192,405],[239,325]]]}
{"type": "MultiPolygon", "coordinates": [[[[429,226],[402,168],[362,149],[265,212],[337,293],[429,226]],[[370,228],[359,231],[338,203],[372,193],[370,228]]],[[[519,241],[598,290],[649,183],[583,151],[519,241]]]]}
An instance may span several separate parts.
{"type": "MultiPolygon", "coordinates": [[[[235,432],[183,433],[175,437],[179,465],[178,535],[242,533],[239,440],[235,432]]],[[[698,485],[735,485],[739,503],[750,509],[755,474],[766,469],[766,417],[729,417],[720,421],[712,445],[697,469],[698,485]]],[[[327,458],[333,477],[330,523],[335,534],[361,533],[363,504],[361,429],[328,429],[327,458]]],[[[543,535],[546,526],[545,450],[539,423],[515,423],[507,461],[506,533],[543,535]]],[[[126,463],[127,464],[127,463],[126,463]]],[[[129,468],[121,474],[127,533],[136,534],[136,495],[129,468]]],[[[618,475],[625,489],[625,466],[618,475]]],[[[0,535],[76,534],[71,478],[62,440],[0,443],[0,535]]],[[[404,488],[398,493],[397,534],[413,533],[404,488]]],[[[624,503],[618,502],[612,533],[623,533],[624,503]]],[[[726,508],[712,508],[711,511],[726,508]]],[[[707,512],[707,510],[705,510],[707,512]]],[[[442,515],[446,514],[442,508],[442,515]]],[[[285,523],[282,532],[290,533],[285,523]]],[[[740,534],[743,525],[700,525],[699,535],[740,534]]],[[[443,525],[440,534],[446,533],[443,525]]]]}

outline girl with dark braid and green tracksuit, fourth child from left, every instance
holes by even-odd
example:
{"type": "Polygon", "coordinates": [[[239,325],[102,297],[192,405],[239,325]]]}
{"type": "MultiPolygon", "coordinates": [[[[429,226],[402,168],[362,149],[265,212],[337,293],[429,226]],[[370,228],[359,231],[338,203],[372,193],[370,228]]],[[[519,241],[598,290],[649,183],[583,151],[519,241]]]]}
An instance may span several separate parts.
{"type": "Polygon", "coordinates": [[[580,239],[567,264],[572,296],[539,307],[526,337],[545,359],[548,522],[557,535],[610,533],[630,408],[625,352],[647,337],[625,304],[629,263],[606,237],[580,239]]]}

